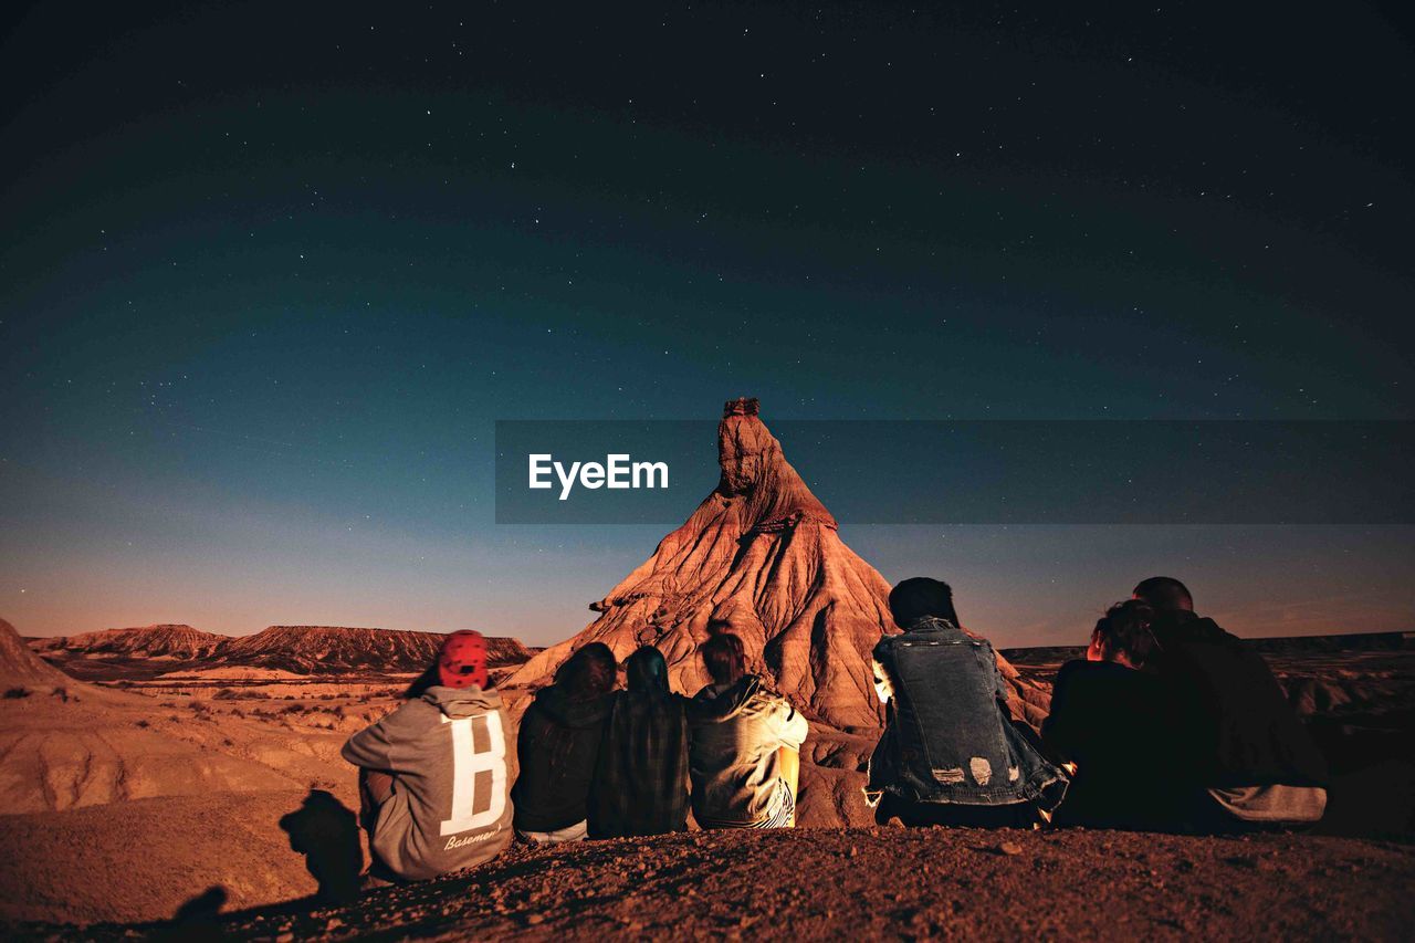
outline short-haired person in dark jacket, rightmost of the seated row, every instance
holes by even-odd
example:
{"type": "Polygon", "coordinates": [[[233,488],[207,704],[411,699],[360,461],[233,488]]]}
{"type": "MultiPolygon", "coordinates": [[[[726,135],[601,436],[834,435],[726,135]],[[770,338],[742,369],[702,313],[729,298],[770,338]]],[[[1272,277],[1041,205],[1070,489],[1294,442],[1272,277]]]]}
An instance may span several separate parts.
{"type": "Polygon", "coordinates": [[[1194,613],[1184,583],[1152,576],[1135,599],[1155,610],[1148,661],[1166,684],[1179,748],[1203,787],[1206,831],[1306,825],[1326,810],[1326,758],[1262,656],[1194,613]]]}

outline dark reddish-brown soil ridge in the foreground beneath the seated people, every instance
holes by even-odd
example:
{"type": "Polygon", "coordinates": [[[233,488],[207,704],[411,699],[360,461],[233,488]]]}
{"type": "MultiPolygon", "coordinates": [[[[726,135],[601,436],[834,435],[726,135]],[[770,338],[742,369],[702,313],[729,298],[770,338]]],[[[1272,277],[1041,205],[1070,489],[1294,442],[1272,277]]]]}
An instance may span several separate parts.
{"type": "MultiPolygon", "coordinates": [[[[518,848],[231,939],[1408,939],[1415,848],[1303,835],[849,828],[518,848]]],[[[143,932],[200,929],[146,926],[143,932]]],[[[92,927],[109,939],[132,927],[92,927]]],[[[44,927],[24,927],[42,933],[44,927]]]]}

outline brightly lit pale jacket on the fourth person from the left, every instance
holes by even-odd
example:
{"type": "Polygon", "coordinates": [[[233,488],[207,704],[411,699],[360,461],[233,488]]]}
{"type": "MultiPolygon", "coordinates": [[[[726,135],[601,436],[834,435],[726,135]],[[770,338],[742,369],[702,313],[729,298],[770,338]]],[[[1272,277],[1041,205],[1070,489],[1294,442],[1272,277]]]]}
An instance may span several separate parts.
{"type": "Polygon", "coordinates": [[[688,704],[693,816],[750,825],[771,816],[782,746],[801,749],[809,726],[754,674],[709,684],[688,704]]]}

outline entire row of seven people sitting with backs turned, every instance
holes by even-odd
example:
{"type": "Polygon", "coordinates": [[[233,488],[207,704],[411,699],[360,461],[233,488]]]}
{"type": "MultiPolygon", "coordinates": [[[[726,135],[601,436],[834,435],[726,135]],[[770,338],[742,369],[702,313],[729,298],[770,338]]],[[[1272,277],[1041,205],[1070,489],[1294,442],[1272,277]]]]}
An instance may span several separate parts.
{"type": "MultiPolygon", "coordinates": [[[[1057,674],[1040,735],[1009,711],[992,644],[964,629],[947,583],[890,593],[901,633],[874,648],[884,732],[866,801],[882,824],[1166,831],[1306,825],[1326,765],[1262,657],[1176,579],[1153,578],[1097,623],[1085,660],[1057,674]]],[[[430,878],[532,844],[795,821],[805,718],[747,671],[741,640],[699,647],[712,682],[669,688],[662,653],[623,668],[577,648],[536,692],[508,783],[505,714],[485,640],[449,636],[437,663],[382,721],[355,733],[371,874],[430,878]]]]}

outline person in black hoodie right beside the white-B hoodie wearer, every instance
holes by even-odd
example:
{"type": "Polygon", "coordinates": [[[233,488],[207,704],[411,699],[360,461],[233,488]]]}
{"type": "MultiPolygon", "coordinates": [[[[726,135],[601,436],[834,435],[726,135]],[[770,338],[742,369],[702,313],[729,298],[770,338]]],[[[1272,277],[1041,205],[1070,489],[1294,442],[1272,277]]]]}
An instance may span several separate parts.
{"type": "Polygon", "coordinates": [[[521,840],[556,844],[586,837],[590,783],[617,674],[610,647],[591,641],[566,658],[526,708],[516,738],[521,775],[511,790],[521,840]]]}

